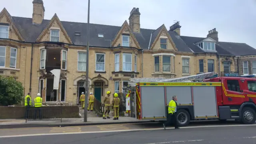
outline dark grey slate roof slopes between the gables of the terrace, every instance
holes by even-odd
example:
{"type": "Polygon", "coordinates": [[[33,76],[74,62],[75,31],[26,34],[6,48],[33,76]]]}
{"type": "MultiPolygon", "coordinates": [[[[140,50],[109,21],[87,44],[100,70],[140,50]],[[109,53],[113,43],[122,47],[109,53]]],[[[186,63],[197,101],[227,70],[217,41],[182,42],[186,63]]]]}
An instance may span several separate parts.
{"type": "MultiPolygon", "coordinates": [[[[32,18],[22,18],[13,16],[12,20],[19,32],[22,34],[26,42],[35,42],[50,20],[43,20],[42,24],[33,24],[32,18]]],[[[68,36],[75,45],[86,46],[87,44],[87,23],[80,22],[66,22],[61,21],[62,26],[68,33],[68,36]],[[74,32],[81,32],[81,36],[75,36],[74,32]]],[[[140,47],[144,50],[148,49],[156,39],[156,36],[160,32],[164,25],[160,26],[156,30],[140,29],[140,33],[134,32],[134,36],[140,47]],[[152,36],[151,36],[152,34],[152,36]],[[151,41],[150,41],[151,37],[151,41]]],[[[90,46],[109,47],[110,40],[112,41],[121,26],[109,26],[102,24],[90,24],[90,46]],[[98,38],[98,34],[104,34],[104,38],[98,38]]],[[[195,45],[205,38],[191,37],[191,36],[179,36],[176,32],[168,31],[176,48],[180,52],[204,52],[198,46],[195,45]]],[[[241,56],[255,54],[256,50],[244,43],[232,43],[232,42],[216,42],[216,50],[221,55],[241,56]]]]}

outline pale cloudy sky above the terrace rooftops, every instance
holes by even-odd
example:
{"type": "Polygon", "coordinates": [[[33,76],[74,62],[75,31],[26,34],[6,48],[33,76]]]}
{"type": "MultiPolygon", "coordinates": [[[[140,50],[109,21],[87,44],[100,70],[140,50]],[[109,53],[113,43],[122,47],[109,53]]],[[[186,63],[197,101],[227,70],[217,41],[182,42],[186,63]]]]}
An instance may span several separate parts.
{"type": "MultiPolygon", "coordinates": [[[[12,16],[32,18],[33,0],[2,0],[12,16]]],[[[88,0],[43,0],[44,19],[87,22],[88,0]]],[[[256,48],[256,0],[90,0],[90,23],[122,26],[132,8],[140,10],[140,28],[167,29],[180,21],[182,36],[206,37],[216,28],[219,41],[256,48]]]]}

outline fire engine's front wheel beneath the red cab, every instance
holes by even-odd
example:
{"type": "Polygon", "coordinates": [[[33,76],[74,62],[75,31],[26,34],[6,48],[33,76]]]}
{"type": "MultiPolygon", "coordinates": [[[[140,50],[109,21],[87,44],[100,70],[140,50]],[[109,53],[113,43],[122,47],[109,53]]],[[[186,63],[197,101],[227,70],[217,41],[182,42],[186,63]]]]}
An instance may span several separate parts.
{"type": "Polygon", "coordinates": [[[244,124],[254,124],[256,120],[255,111],[252,108],[243,108],[241,112],[241,120],[244,124]]]}

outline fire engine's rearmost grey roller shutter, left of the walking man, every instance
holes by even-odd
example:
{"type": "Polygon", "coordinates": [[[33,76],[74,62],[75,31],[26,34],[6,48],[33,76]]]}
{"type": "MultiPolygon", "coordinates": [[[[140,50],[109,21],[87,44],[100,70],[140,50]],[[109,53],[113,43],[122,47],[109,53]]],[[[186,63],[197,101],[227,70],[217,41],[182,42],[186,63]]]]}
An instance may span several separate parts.
{"type": "Polygon", "coordinates": [[[140,85],[142,120],[166,120],[164,86],[140,85]]]}

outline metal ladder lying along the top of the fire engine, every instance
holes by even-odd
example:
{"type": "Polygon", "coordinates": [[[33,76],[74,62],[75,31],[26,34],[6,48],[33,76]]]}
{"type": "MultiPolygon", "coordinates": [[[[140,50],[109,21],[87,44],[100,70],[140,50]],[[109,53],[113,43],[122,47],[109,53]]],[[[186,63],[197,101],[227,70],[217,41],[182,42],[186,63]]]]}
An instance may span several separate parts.
{"type": "Polygon", "coordinates": [[[172,78],[172,79],[165,79],[165,78],[130,78],[130,82],[128,82],[129,86],[136,86],[137,82],[184,82],[187,80],[203,80],[209,76],[213,76],[214,72],[208,72],[204,74],[197,74],[194,76],[186,76],[182,78],[172,78]]]}

